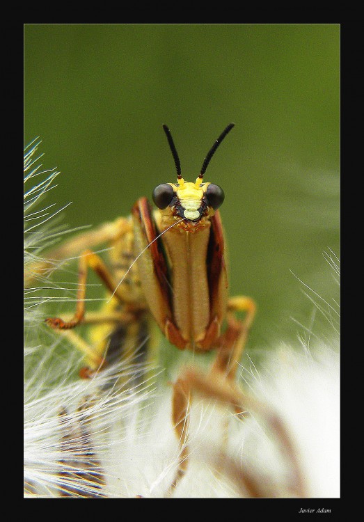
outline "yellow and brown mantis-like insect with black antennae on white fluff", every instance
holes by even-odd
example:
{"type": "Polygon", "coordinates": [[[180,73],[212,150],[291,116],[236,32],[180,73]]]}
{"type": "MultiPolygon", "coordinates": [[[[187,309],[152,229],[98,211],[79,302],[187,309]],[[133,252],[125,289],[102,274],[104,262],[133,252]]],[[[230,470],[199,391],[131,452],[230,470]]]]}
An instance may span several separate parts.
{"type": "Polygon", "coordinates": [[[114,325],[109,339],[99,343],[96,350],[75,338],[75,344],[85,354],[84,377],[109,363],[116,347],[126,345],[132,331],[136,337],[148,331],[151,320],[177,349],[216,351],[209,375],[202,381],[189,371],[173,384],[173,425],[181,445],[180,468],[174,484],[187,468],[193,388],[205,388],[206,393],[214,395],[207,390],[214,388],[219,377],[214,390],[221,398],[223,377],[230,393],[255,315],[253,299],[228,296],[225,239],[219,213],[224,193],[219,185],[204,180],[209,161],[232,127],[234,124],[230,123],[209,149],[196,181],[187,182],[182,177],[171,131],[164,125],[177,182],[164,182],[154,189],[152,199],[157,209],[153,210],[148,199],[142,197],[129,217],[81,234],[50,256],[62,259],[81,253],[76,312],[63,319],[49,317],[47,324],[62,331],[73,331],[83,323],[114,325]],[[113,247],[109,266],[91,250],[104,242],[113,247]],[[93,269],[111,292],[111,299],[100,313],[85,310],[88,269],[93,269]],[[239,319],[237,312],[244,312],[244,319],[239,319]]]}

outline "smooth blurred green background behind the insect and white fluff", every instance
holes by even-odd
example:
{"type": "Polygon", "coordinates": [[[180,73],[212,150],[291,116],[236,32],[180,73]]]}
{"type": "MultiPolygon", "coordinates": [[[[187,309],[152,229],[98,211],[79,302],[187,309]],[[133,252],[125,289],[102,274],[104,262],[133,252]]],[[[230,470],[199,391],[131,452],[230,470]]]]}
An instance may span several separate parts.
{"type": "MultiPolygon", "coordinates": [[[[232,294],[253,296],[249,346],[312,326],[296,274],[331,302],[339,253],[338,24],[26,24],[24,143],[61,171],[49,203],[70,227],[128,214],[187,180],[229,122],[205,179],[225,191],[232,294]]],[[[315,319],[317,320],[317,319],[315,319]]]]}

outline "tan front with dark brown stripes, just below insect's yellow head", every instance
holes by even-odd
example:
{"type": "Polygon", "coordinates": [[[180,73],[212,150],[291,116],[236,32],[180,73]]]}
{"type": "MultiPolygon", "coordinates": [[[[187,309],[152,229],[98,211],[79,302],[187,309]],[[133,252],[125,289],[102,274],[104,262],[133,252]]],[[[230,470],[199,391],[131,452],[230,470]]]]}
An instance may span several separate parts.
{"type": "Polygon", "coordinates": [[[161,331],[180,349],[212,349],[228,297],[219,212],[186,223],[171,212],[152,214],[148,200],[141,198],[133,216],[136,251],[154,242],[137,264],[145,299],[161,331]]]}

